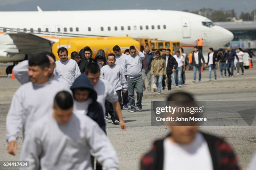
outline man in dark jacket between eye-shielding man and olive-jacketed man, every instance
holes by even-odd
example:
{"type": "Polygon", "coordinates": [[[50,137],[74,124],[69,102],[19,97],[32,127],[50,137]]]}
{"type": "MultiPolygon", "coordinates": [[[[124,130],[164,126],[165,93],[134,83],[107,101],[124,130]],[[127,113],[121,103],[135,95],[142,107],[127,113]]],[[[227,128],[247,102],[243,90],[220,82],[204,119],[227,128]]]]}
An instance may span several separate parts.
{"type": "Polygon", "coordinates": [[[142,82],[143,82],[143,90],[146,90],[146,86],[145,86],[145,79],[147,78],[148,80],[148,86],[147,86],[147,90],[148,92],[151,92],[151,62],[154,58],[154,53],[151,52],[149,50],[148,45],[146,45],[145,50],[143,51],[144,55],[145,55],[145,59],[142,61],[142,71],[141,71],[141,75],[142,75],[142,82]]]}

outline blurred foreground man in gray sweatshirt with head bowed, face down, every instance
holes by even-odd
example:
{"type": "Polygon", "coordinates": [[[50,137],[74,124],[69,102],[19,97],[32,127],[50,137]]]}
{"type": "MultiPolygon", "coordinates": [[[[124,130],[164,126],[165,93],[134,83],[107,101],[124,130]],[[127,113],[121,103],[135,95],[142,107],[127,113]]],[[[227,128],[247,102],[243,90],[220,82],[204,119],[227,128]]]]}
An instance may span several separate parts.
{"type": "Polygon", "coordinates": [[[53,111],[29,130],[20,161],[28,161],[30,170],[92,170],[91,153],[103,170],[118,170],[117,155],[103,130],[89,117],[73,114],[72,95],[58,92],[53,103],[53,111]]]}

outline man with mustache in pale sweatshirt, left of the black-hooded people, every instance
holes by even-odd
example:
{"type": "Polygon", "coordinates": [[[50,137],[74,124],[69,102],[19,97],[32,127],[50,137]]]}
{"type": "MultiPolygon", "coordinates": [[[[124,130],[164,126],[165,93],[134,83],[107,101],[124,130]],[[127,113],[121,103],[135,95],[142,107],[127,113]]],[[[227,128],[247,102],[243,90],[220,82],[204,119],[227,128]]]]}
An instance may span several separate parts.
{"type": "Polygon", "coordinates": [[[81,74],[79,66],[75,60],[68,58],[68,50],[65,47],[58,49],[60,60],[56,61],[54,74],[63,77],[72,86],[74,80],[81,74]]]}

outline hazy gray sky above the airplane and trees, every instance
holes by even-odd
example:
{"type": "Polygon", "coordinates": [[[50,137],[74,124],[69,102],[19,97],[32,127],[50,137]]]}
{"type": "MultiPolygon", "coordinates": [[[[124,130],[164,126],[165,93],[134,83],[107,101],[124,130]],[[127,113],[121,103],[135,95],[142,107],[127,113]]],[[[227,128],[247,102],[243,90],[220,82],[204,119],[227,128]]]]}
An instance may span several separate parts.
{"type": "Polygon", "coordinates": [[[199,10],[202,7],[243,11],[256,9],[255,0],[0,0],[0,11],[161,9],[199,10]]]}

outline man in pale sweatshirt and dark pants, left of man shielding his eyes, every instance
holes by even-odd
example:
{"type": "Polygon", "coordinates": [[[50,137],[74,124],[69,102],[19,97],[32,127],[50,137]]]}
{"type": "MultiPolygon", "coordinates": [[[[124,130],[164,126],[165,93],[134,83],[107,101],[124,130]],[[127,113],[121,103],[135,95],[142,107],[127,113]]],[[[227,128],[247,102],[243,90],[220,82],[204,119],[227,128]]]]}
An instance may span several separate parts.
{"type": "MultiPolygon", "coordinates": [[[[118,95],[119,104],[122,105],[122,91],[127,92],[127,81],[123,73],[123,68],[120,65],[115,64],[115,55],[110,53],[108,55],[108,65],[103,66],[100,69],[100,78],[107,80],[115,88],[118,95]]],[[[108,102],[108,110],[111,115],[111,120],[115,125],[119,124],[118,115],[113,109],[112,103],[108,102]]]]}

